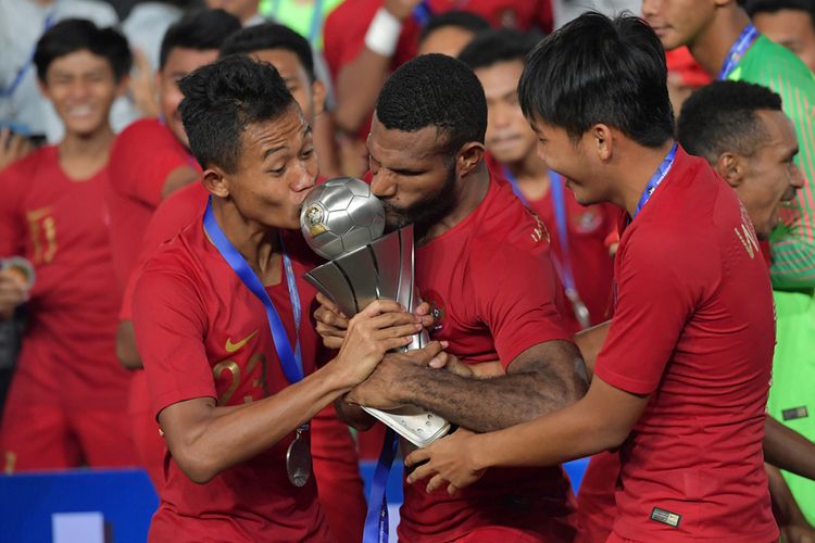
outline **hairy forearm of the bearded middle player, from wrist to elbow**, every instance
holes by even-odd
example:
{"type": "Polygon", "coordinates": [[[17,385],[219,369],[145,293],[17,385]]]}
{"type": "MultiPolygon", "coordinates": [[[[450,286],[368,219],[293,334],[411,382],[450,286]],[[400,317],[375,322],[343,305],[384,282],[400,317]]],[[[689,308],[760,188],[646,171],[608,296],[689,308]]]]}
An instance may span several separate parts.
{"type": "Polygon", "coordinates": [[[400,401],[426,407],[459,426],[488,432],[560,409],[576,400],[584,383],[556,371],[507,374],[492,379],[415,368],[394,383],[400,401]]]}

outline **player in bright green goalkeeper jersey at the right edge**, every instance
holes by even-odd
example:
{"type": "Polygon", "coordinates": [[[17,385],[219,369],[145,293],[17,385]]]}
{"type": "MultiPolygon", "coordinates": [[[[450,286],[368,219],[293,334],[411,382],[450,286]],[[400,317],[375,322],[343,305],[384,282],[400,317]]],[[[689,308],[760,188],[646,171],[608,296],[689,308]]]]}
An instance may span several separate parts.
{"type": "MultiPolygon", "coordinates": [[[[644,0],[642,13],[665,49],[687,45],[699,64],[718,79],[769,87],[781,96],[795,126],[801,152],[795,164],[804,187],[770,237],[770,277],[776,303],[776,350],[767,412],[815,439],[808,416],[815,387],[815,77],[791,51],[758,34],[735,0],[644,0]]],[[[811,522],[815,482],[787,478],[811,522]]]]}

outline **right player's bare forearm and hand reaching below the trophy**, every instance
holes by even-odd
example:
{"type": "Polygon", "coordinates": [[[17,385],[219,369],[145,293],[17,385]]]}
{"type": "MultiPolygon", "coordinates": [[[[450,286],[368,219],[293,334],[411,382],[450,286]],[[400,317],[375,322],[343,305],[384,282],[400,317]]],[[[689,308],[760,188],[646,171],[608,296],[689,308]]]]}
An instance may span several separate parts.
{"type": "Polygon", "coordinates": [[[578,402],[497,432],[455,432],[417,450],[405,466],[421,463],[409,482],[430,478],[428,491],[467,487],[490,467],[551,466],[619,446],[648,404],[600,378],[578,402]]]}

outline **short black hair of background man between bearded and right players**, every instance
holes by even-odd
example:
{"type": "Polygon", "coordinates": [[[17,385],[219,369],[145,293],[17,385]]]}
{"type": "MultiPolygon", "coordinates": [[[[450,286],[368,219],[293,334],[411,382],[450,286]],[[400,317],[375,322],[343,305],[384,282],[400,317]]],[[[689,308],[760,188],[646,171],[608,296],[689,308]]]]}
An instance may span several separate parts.
{"type": "Polygon", "coordinates": [[[476,35],[459,53],[459,60],[473,70],[489,67],[499,62],[525,62],[540,41],[538,35],[514,28],[494,28],[476,35]]]}

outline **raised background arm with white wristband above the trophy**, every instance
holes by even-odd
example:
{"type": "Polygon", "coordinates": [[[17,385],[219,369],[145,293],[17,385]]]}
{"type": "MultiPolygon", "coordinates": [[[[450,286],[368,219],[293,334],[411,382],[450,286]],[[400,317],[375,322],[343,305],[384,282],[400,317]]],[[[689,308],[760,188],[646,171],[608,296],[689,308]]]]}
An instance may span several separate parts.
{"type": "Polygon", "coordinates": [[[419,1],[385,0],[367,27],[359,54],[340,68],[335,121],[346,132],[356,132],[374,110],[390,72],[402,23],[419,1]]]}

